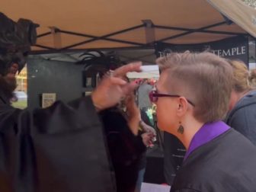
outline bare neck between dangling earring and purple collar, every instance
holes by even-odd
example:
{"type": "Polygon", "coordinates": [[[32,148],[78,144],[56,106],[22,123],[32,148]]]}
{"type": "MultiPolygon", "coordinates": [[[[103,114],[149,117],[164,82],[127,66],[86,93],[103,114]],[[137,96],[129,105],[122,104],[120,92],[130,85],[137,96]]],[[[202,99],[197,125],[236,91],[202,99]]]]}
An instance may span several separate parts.
{"type": "Polygon", "coordinates": [[[198,130],[203,126],[203,123],[194,120],[191,118],[190,120],[181,121],[182,126],[184,126],[184,133],[174,133],[175,136],[183,143],[186,149],[189,148],[190,142],[193,139],[194,135],[197,133],[198,130]]]}

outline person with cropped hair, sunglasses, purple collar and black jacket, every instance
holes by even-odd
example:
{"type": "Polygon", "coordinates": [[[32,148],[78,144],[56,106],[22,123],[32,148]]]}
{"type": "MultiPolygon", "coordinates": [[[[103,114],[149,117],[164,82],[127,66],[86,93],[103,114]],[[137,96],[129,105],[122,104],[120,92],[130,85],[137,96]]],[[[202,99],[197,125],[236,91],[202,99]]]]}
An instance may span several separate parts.
{"type": "Polygon", "coordinates": [[[171,192],[255,191],[256,147],[222,122],[233,85],[229,62],[213,53],[185,52],[157,63],[162,74],[150,98],[158,126],[187,149],[171,192]]]}

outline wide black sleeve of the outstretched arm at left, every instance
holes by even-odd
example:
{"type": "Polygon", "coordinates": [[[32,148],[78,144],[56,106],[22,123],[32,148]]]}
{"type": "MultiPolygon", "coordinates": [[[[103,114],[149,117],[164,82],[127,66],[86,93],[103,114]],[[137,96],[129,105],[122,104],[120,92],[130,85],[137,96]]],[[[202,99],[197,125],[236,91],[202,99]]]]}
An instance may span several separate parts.
{"type": "Polygon", "coordinates": [[[114,191],[91,98],[46,109],[0,106],[0,191],[114,191]]]}

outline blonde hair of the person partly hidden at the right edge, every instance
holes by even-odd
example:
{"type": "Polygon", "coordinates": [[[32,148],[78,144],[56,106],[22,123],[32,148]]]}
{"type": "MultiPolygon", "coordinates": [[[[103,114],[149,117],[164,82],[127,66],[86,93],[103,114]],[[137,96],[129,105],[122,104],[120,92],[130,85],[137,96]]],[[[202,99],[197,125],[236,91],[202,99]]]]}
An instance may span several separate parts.
{"type": "Polygon", "coordinates": [[[233,69],[233,89],[237,93],[242,93],[244,91],[249,91],[251,89],[249,83],[249,71],[245,62],[240,60],[228,60],[229,64],[233,69]]]}

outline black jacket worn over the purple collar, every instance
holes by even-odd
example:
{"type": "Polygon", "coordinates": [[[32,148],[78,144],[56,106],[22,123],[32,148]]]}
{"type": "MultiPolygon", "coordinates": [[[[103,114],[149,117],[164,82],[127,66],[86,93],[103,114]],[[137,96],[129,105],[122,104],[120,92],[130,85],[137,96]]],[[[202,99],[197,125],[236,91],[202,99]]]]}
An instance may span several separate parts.
{"type": "Polygon", "coordinates": [[[171,192],[256,191],[256,147],[233,129],[190,153],[171,192]]]}

